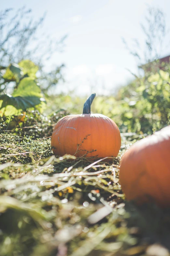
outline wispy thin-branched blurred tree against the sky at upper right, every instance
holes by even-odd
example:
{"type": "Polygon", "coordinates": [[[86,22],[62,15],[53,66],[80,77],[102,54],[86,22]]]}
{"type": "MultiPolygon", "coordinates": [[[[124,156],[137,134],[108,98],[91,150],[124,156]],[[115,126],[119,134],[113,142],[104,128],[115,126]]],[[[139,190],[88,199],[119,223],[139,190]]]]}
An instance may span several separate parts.
{"type": "MultiPolygon", "coordinates": [[[[144,34],[144,44],[137,38],[132,39],[132,46],[122,38],[125,47],[137,60],[138,67],[144,63],[158,60],[162,56],[165,47],[166,37],[169,34],[166,29],[165,15],[159,8],[148,7],[144,22],[141,24],[144,34]]],[[[169,42],[168,42],[169,44],[169,42]]]]}

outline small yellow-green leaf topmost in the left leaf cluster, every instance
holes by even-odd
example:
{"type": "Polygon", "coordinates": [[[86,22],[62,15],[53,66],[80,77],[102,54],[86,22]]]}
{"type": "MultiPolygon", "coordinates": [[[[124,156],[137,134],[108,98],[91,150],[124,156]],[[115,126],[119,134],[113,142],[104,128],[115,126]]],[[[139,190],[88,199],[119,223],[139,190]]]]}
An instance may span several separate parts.
{"type": "Polygon", "coordinates": [[[20,63],[18,63],[18,65],[23,68],[23,73],[28,74],[28,76],[31,77],[36,77],[35,74],[38,71],[38,66],[35,65],[34,62],[32,62],[29,59],[25,59],[25,60],[21,60],[20,63]]]}

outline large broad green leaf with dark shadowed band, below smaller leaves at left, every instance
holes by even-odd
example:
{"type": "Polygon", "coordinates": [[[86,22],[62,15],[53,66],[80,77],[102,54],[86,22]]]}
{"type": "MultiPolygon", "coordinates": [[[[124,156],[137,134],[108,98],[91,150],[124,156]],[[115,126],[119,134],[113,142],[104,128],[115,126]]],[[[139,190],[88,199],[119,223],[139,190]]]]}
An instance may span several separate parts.
{"type": "Polygon", "coordinates": [[[37,107],[45,102],[42,98],[41,89],[31,77],[21,80],[13,95],[0,96],[0,116],[15,115],[21,110],[37,107]]]}

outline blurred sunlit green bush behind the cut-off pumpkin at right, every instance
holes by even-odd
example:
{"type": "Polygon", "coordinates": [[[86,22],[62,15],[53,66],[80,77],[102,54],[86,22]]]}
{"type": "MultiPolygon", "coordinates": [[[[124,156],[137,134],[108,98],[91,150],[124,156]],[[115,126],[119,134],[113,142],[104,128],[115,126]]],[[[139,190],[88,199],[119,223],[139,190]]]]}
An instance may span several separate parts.
{"type": "Polygon", "coordinates": [[[151,72],[120,89],[118,97],[124,99],[126,105],[121,120],[127,125],[128,131],[152,134],[152,129],[160,130],[169,124],[169,73],[168,64],[165,71],[151,72]]]}

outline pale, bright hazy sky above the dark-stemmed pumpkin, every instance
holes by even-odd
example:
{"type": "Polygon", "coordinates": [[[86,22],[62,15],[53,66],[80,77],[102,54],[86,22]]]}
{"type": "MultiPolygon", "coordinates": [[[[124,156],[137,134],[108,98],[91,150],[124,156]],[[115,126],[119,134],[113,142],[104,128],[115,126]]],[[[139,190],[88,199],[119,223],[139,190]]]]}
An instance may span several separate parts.
{"type": "MultiPolygon", "coordinates": [[[[164,0],[8,0],[0,9],[32,8],[36,18],[47,11],[43,30],[59,39],[65,34],[63,53],[55,53],[47,68],[65,63],[66,83],[56,92],[75,89],[78,94],[91,91],[109,93],[114,88],[132,79],[126,68],[136,72],[136,62],[125,49],[121,38],[129,43],[138,38],[141,44],[144,35],[140,28],[146,14],[147,4],[161,8],[170,27],[170,1],[164,0]]],[[[162,56],[170,54],[163,49],[162,56]]]]}

